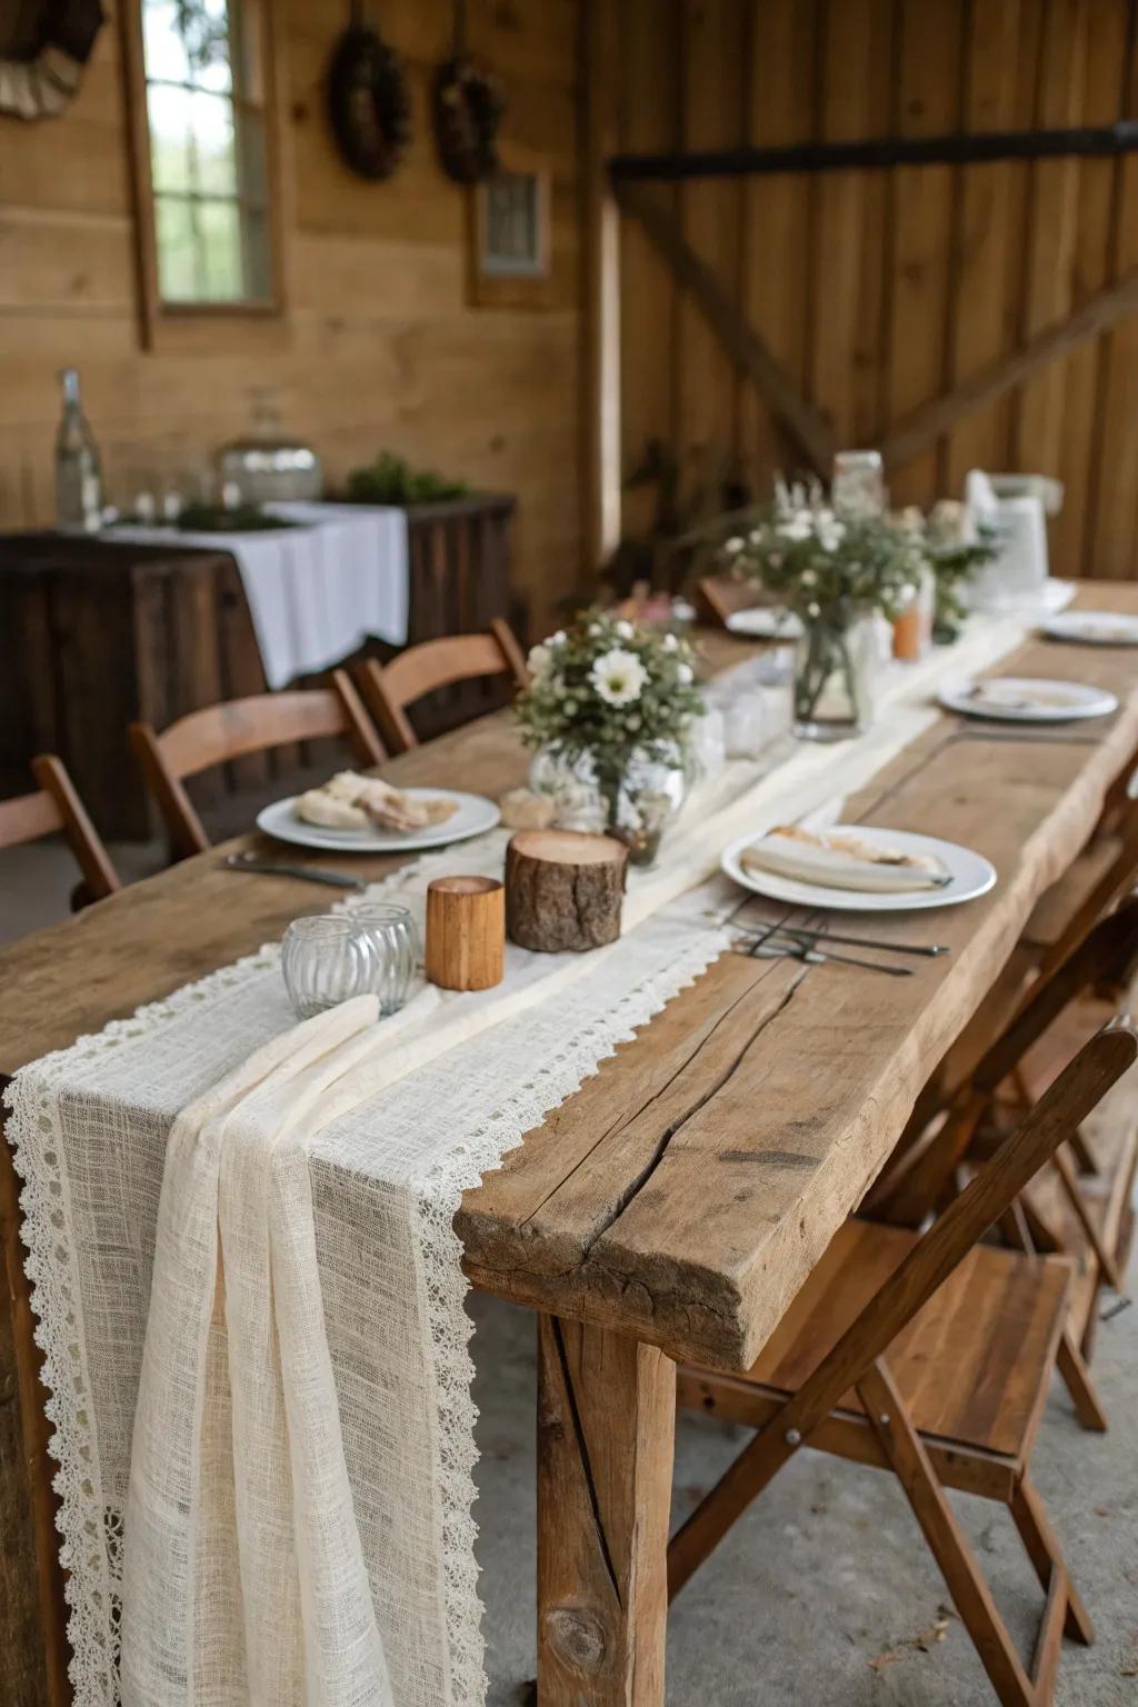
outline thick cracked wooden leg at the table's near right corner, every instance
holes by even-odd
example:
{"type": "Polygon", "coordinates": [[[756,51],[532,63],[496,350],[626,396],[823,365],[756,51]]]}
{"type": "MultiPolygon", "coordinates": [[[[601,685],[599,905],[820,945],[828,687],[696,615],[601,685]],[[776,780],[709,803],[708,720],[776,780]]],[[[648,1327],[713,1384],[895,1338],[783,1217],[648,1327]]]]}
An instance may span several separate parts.
{"type": "Polygon", "coordinates": [[[537,1318],[537,1704],[662,1707],[676,1364],[537,1318]]]}

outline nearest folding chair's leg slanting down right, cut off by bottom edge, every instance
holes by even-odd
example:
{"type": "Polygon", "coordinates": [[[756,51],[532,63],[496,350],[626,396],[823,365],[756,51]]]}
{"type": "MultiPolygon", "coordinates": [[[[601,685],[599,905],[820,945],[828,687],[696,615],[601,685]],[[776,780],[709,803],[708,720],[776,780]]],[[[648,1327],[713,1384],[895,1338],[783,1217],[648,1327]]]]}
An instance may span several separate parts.
{"type": "Polygon", "coordinates": [[[976,1652],[1003,1707],[1037,1707],[1037,1693],[1015,1652],[1003,1618],[945,1499],[920,1434],[887,1367],[879,1360],[862,1376],[858,1396],[913,1507],[928,1548],[949,1586],[976,1652]]]}

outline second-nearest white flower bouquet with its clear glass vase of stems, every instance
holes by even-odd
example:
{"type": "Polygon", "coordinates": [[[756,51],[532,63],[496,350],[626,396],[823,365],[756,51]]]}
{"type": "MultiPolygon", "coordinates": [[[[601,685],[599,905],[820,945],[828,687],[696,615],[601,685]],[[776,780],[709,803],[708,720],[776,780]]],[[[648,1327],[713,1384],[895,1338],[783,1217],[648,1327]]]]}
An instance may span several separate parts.
{"type": "Polygon", "coordinates": [[[817,485],[780,481],[769,510],[729,538],[722,558],[798,618],[795,734],[827,741],[863,729],[879,655],[874,618],[892,621],[916,596],[921,539],[884,516],[834,509],[817,485]]]}

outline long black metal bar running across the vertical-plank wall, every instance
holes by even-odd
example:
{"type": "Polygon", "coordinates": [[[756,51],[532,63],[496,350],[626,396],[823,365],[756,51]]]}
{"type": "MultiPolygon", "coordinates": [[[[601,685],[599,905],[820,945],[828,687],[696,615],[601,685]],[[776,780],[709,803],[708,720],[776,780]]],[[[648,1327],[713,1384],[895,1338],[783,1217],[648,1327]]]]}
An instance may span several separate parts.
{"type": "Polygon", "coordinates": [[[788,149],[703,149],[688,154],[616,154],[614,183],[630,179],[746,178],[775,172],[880,171],[891,166],[974,166],[1138,150],[1138,121],[1082,130],[991,130],[954,137],[880,137],[807,142],[788,149]]]}

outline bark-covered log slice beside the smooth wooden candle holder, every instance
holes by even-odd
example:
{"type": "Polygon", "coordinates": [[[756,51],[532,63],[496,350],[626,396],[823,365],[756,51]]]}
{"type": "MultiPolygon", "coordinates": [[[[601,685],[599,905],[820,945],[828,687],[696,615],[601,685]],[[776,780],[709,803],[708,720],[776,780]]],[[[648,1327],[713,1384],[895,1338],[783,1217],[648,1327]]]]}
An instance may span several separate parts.
{"type": "Polygon", "coordinates": [[[621,934],[628,848],[577,830],[520,830],[505,850],[505,923],[539,954],[584,953],[621,934]]]}

